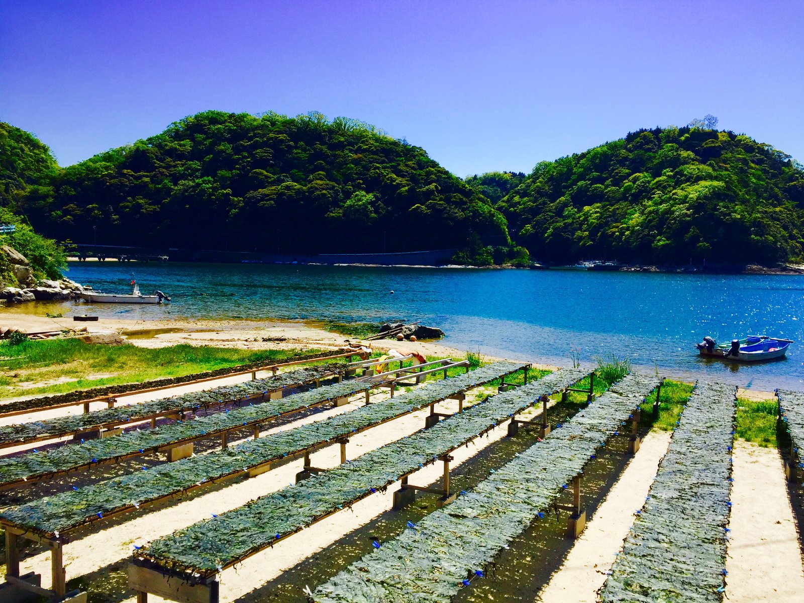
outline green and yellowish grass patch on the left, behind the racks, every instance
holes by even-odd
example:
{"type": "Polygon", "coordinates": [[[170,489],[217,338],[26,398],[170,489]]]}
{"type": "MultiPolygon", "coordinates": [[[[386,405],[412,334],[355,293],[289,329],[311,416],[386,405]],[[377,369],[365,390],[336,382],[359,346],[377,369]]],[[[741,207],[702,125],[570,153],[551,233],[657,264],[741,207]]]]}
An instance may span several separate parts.
{"type": "Polygon", "coordinates": [[[2,343],[0,399],[142,383],[240,364],[281,362],[298,354],[299,350],[237,350],[188,345],[154,349],[104,346],[71,338],[18,345],[2,343]]]}

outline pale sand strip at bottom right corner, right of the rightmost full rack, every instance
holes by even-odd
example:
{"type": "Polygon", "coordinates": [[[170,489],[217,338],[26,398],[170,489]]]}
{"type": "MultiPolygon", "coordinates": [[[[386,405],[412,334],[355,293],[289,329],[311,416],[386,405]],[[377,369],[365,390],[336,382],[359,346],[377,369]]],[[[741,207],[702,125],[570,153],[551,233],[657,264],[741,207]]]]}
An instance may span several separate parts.
{"type": "Polygon", "coordinates": [[[802,603],[802,552],[779,451],[737,441],[733,459],[726,600],[802,603]]]}

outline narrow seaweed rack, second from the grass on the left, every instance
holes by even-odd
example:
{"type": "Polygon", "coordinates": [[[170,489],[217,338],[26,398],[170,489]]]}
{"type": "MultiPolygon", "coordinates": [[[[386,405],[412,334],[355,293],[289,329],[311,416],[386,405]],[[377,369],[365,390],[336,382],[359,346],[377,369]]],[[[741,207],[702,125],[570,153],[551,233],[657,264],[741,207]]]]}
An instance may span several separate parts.
{"type": "Polygon", "coordinates": [[[234,400],[265,396],[269,392],[310,383],[316,379],[322,379],[326,375],[333,375],[345,367],[345,364],[330,364],[300,368],[266,379],[224,385],[219,388],[207,389],[203,392],[187,393],[183,396],[172,396],[142,404],[129,404],[128,406],[106,408],[97,412],[58,416],[54,419],[0,427],[0,445],[72,435],[89,429],[100,429],[108,425],[121,425],[131,420],[141,420],[143,417],[163,415],[168,412],[187,412],[214,408],[234,400]]]}

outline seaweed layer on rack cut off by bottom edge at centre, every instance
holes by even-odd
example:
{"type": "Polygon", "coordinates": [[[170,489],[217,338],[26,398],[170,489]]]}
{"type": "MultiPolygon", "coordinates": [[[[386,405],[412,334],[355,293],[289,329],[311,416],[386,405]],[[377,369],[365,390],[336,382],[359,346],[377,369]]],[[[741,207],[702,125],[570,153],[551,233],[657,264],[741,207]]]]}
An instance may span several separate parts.
{"type": "Polygon", "coordinates": [[[629,375],[467,494],[314,592],[315,601],[449,601],[556,502],[658,379],[629,375]]]}

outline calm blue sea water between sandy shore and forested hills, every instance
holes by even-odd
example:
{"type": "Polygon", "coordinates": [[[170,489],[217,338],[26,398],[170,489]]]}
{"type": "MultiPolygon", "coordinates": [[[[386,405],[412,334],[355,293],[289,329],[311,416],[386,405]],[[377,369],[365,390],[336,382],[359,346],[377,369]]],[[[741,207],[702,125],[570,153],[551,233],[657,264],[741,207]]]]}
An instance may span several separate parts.
{"type": "Polygon", "coordinates": [[[651,370],[804,389],[800,276],[117,262],[74,263],[67,276],[128,293],[132,272],[143,293],[162,289],[173,303],[71,302],[61,311],[146,320],[420,320],[445,330],[445,343],[489,355],[568,365],[572,349],[586,362],[627,354],[651,370]],[[745,334],[797,343],[787,359],[758,365],[701,359],[695,351],[704,335],[720,342],[745,334]]]}

